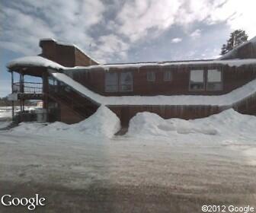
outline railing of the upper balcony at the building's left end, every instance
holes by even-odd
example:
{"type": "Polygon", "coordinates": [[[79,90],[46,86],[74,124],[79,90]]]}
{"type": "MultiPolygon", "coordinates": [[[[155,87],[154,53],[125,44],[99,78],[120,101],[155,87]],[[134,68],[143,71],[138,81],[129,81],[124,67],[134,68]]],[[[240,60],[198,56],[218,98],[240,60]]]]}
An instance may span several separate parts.
{"type": "Polygon", "coordinates": [[[16,82],[13,84],[13,91],[24,94],[42,94],[43,84],[34,82],[16,82]]]}

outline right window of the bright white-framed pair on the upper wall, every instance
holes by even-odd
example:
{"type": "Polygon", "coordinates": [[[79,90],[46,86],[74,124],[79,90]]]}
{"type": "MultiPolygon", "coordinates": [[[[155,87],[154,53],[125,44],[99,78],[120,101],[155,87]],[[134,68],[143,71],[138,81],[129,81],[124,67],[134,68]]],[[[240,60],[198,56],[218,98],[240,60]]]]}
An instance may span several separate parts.
{"type": "Polygon", "coordinates": [[[207,71],[207,90],[221,91],[222,90],[222,72],[218,69],[209,69],[207,71]]]}

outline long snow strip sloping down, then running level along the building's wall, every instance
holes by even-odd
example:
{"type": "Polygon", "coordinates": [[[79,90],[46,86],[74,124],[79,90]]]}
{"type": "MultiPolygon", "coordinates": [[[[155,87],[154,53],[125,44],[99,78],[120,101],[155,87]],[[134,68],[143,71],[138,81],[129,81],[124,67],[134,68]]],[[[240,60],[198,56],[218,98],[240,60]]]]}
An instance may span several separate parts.
{"type": "Polygon", "coordinates": [[[53,77],[57,80],[68,84],[75,91],[88,97],[95,103],[107,105],[107,106],[120,106],[120,105],[194,105],[194,106],[232,106],[232,104],[238,103],[247,97],[256,93],[256,79],[250,81],[238,89],[230,92],[229,94],[223,94],[218,96],[206,96],[206,95],[172,95],[172,96],[122,96],[122,97],[105,97],[100,94],[94,93],[87,87],[69,78],[62,73],[52,73],[53,77]]]}

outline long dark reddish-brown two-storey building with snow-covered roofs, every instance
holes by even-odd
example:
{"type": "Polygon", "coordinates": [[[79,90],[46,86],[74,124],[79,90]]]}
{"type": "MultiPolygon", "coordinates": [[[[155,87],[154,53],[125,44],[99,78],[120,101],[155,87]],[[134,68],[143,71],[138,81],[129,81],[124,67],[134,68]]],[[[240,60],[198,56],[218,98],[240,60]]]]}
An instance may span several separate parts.
{"type": "Polygon", "coordinates": [[[166,119],[201,118],[229,108],[256,114],[256,37],[220,59],[179,62],[101,65],[74,45],[47,39],[40,47],[39,56],[8,64],[10,97],[20,100],[21,111],[24,100],[43,100],[49,122],[79,122],[101,104],[123,126],[142,111],[166,119]],[[27,75],[42,82],[27,82],[27,75]]]}

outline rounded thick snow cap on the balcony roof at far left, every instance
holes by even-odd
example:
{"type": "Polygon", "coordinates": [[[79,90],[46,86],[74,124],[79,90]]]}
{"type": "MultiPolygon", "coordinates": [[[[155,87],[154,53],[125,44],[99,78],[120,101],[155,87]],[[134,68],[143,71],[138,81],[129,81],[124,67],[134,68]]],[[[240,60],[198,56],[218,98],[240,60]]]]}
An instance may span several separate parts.
{"type": "Polygon", "coordinates": [[[14,59],[13,61],[7,64],[7,67],[10,69],[14,66],[40,66],[40,67],[49,67],[49,68],[55,68],[55,69],[65,68],[56,62],[43,58],[42,56],[26,56],[26,57],[14,59]]]}

